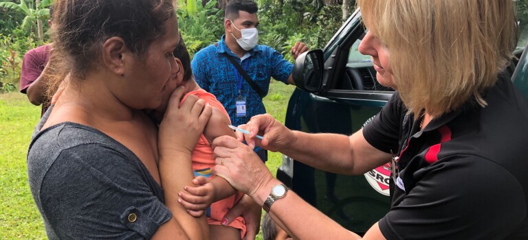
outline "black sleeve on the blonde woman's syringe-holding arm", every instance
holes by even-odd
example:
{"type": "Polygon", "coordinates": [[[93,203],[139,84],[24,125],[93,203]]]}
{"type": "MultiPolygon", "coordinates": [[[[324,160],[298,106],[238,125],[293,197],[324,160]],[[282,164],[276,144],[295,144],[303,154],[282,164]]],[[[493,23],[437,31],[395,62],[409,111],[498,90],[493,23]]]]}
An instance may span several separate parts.
{"type": "Polygon", "coordinates": [[[363,128],[366,141],[383,152],[398,152],[399,130],[401,119],[406,114],[406,108],[397,92],[387,102],[382,110],[363,128]]]}

